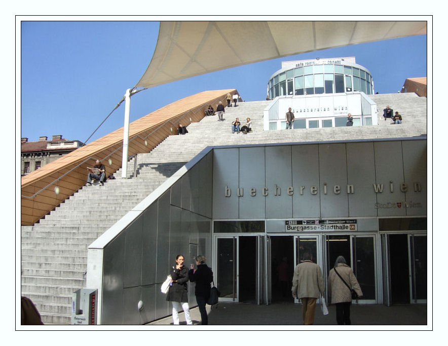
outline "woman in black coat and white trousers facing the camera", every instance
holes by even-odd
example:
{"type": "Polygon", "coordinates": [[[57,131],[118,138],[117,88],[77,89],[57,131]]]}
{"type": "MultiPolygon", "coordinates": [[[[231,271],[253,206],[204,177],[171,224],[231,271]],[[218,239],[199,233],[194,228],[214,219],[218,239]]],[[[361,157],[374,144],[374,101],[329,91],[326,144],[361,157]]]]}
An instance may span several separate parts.
{"type": "Polygon", "coordinates": [[[173,304],[173,322],[179,324],[179,311],[184,312],[186,324],[193,324],[188,306],[188,268],[183,266],[183,256],[177,255],[176,264],[171,268],[171,283],[166,300],[173,304]]]}

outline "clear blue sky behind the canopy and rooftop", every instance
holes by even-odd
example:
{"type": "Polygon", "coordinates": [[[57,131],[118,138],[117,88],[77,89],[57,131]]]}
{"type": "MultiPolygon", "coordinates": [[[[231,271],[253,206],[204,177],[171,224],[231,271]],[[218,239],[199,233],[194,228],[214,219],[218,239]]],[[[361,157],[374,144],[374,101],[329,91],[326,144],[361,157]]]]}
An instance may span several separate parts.
{"type": "MultiPolygon", "coordinates": [[[[63,135],[84,142],[132,88],[151,61],[158,22],[23,21],[21,23],[21,137],[63,135]]],[[[408,77],[427,76],[427,36],[390,39],[273,59],[192,77],[140,92],[136,120],[204,90],[238,89],[245,101],[264,100],[281,61],[354,56],[370,70],[375,91],[396,93],[408,77]],[[412,58],[410,58],[412,57],[412,58]]],[[[91,142],[123,126],[124,103],[91,142]]]]}

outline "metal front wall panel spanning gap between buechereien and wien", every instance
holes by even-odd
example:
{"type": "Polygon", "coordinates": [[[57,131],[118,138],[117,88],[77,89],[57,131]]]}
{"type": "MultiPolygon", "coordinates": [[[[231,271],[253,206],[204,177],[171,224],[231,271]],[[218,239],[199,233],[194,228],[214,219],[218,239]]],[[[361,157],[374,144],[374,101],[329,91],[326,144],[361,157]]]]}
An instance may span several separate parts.
{"type": "Polygon", "coordinates": [[[348,195],[350,217],[377,215],[374,182],[374,143],[347,143],[347,183],[354,186],[354,193],[348,195]]]}

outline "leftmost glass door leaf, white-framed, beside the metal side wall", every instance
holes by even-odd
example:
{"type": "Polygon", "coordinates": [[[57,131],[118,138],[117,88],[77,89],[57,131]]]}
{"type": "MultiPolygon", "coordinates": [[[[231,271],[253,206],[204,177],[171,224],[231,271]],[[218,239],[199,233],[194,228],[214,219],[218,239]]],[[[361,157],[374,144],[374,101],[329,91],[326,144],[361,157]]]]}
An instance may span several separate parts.
{"type": "Polygon", "coordinates": [[[238,237],[216,239],[216,287],[219,301],[238,301],[238,237]]]}

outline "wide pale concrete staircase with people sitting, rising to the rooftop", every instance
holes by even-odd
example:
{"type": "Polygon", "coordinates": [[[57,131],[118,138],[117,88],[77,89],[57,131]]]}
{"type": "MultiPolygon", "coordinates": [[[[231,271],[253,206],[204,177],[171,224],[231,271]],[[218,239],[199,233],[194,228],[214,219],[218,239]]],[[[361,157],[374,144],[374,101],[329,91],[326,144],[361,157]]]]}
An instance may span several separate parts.
{"type": "Polygon", "coordinates": [[[426,134],[426,98],[415,94],[372,95],[380,110],[378,126],[263,131],[263,109],[270,101],[238,103],[226,108],[225,121],[207,116],[188,126],[184,136],[170,136],[150,153],[138,154],[121,179],[83,187],[39,224],[21,228],[22,295],[38,308],[45,324],[70,324],[71,294],[85,287],[87,247],[148,194],[206,146],[351,139],[401,138],[426,134]],[[403,124],[384,121],[389,104],[403,124]],[[253,132],[232,134],[231,122],[252,119],[253,132]],[[134,160],[136,174],[134,176],[134,160]]]}

